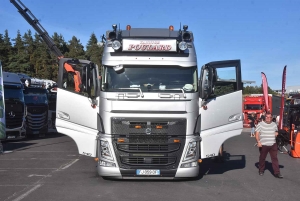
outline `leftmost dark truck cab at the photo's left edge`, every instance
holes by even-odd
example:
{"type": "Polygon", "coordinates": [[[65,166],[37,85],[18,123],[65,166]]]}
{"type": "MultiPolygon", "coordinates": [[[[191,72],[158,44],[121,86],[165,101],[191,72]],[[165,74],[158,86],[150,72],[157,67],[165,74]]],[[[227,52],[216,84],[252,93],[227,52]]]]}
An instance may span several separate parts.
{"type": "Polygon", "coordinates": [[[26,106],[23,85],[16,73],[3,72],[6,139],[25,138],[26,106]]]}

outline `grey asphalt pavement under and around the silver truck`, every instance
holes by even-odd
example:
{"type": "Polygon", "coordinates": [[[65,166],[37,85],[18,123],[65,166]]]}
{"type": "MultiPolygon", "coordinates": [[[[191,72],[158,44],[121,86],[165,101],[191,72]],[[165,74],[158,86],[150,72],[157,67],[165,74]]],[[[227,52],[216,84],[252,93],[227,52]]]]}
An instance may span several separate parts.
{"type": "Polygon", "coordinates": [[[270,156],[258,175],[258,148],[249,129],[225,142],[224,162],[203,160],[200,176],[183,181],[104,180],[93,158],[81,156],[61,134],[3,144],[0,200],[299,200],[300,159],[278,154],[283,179],[270,156]]]}

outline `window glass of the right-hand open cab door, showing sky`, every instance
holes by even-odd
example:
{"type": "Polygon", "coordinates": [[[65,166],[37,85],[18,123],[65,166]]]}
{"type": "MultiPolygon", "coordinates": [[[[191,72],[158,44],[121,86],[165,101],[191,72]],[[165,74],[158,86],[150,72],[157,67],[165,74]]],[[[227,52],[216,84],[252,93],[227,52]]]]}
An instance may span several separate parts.
{"type": "Polygon", "coordinates": [[[214,94],[222,96],[236,91],[236,67],[216,68],[214,94]]]}

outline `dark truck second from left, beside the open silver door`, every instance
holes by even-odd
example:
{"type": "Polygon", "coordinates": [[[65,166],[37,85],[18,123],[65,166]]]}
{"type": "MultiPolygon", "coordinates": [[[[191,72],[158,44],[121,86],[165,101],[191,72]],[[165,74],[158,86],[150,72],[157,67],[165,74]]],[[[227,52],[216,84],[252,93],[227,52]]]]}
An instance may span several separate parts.
{"type": "Polygon", "coordinates": [[[36,78],[19,74],[24,83],[24,100],[27,108],[26,135],[44,136],[48,132],[48,98],[47,90],[36,78]]]}

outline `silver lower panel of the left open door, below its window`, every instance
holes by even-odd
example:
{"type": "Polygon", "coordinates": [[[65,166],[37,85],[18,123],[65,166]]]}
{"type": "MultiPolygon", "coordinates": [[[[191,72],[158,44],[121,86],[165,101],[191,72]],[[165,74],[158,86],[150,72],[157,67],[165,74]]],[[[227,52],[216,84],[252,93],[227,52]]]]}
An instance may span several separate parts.
{"type": "Polygon", "coordinates": [[[86,96],[57,89],[56,128],[71,137],[80,154],[96,155],[97,114],[86,96]]]}

